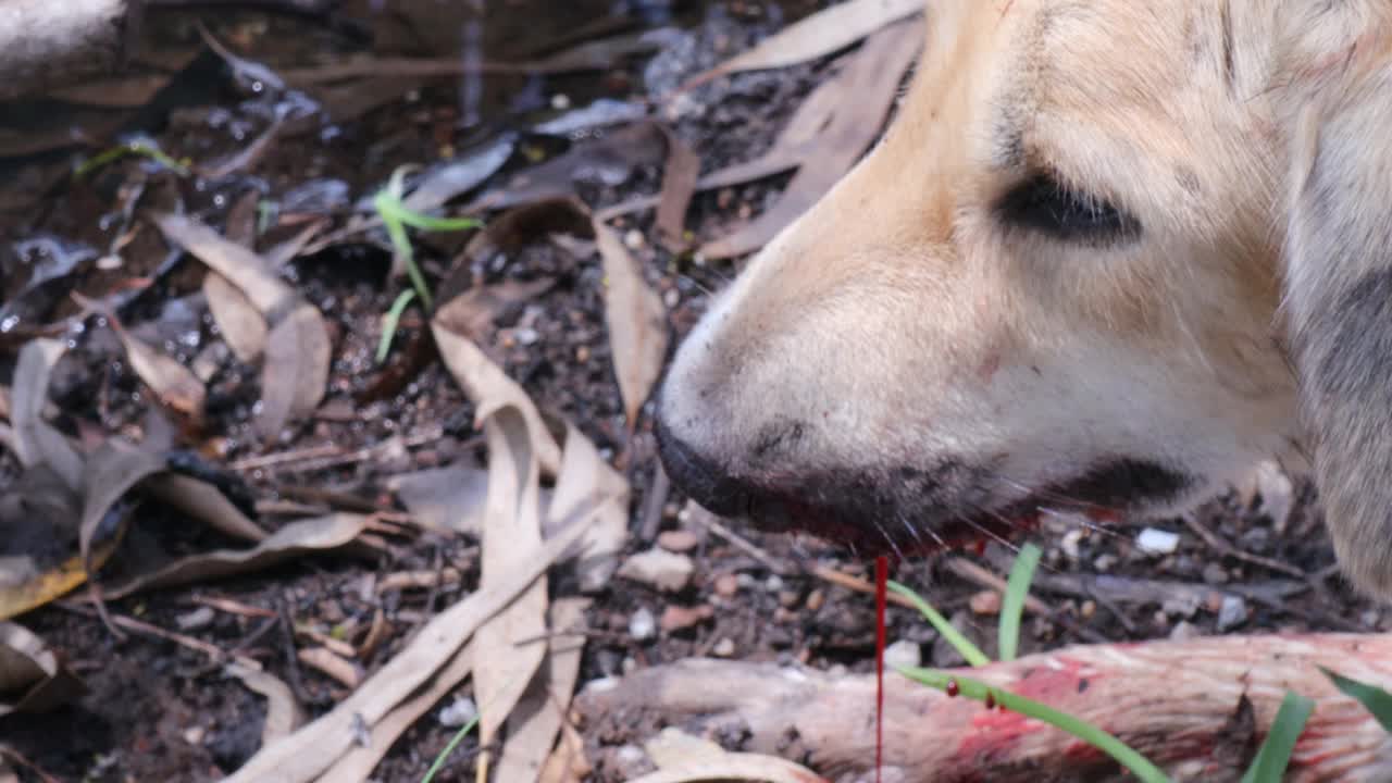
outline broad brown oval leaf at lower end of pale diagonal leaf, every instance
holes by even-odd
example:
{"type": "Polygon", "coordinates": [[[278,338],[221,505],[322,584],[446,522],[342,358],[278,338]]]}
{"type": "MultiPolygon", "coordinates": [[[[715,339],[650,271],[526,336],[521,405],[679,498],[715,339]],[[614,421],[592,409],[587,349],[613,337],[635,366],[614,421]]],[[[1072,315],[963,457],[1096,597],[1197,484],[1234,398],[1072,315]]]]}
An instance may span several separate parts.
{"type": "Polygon", "coordinates": [[[301,302],[270,330],[260,375],[258,435],[277,437],[288,422],[312,414],[324,398],[331,361],[324,316],[301,302]]]}

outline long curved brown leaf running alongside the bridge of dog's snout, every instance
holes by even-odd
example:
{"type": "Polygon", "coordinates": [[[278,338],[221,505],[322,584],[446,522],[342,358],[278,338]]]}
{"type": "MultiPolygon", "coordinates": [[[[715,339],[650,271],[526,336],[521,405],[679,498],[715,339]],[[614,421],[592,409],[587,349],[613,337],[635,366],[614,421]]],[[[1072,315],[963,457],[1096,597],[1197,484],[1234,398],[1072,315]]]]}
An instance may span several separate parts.
{"type": "Polygon", "coordinates": [[[707,242],[700,254],[722,259],[757,251],[825,195],[878,138],[899,89],[899,79],[887,74],[906,72],[922,46],[922,18],[895,22],[871,35],[828,82],[835,85],[839,100],[817,137],[816,155],[807,153],[806,163],[768,210],[732,234],[707,242]]]}

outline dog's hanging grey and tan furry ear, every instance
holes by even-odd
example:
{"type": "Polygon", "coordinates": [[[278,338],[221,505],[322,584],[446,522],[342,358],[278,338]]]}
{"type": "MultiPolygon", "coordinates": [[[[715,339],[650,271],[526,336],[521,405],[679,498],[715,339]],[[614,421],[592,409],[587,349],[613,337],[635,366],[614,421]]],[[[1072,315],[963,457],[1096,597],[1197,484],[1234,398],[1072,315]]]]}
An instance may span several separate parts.
{"type": "Polygon", "coordinates": [[[1346,61],[1306,95],[1285,256],[1300,412],[1339,561],[1392,598],[1392,65],[1346,61]]]}

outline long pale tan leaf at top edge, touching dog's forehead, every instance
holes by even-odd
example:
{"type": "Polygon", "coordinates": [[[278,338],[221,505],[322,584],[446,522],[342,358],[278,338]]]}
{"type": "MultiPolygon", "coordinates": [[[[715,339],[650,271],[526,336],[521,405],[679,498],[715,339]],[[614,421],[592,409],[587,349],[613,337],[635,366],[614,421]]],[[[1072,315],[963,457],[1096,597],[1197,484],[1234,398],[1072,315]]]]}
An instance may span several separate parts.
{"type": "Polygon", "coordinates": [[[923,0],[851,0],[831,6],[788,25],[695,81],[741,71],[784,68],[825,57],[905,17],[922,13],[923,0]]]}

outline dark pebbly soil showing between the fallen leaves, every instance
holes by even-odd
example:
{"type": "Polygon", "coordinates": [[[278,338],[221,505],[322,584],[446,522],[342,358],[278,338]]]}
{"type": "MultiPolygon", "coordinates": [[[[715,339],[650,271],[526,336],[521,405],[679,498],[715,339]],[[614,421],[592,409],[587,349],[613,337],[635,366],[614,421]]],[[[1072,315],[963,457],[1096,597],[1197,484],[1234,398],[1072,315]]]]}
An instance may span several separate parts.
{"type": "MultiPolygon", "coordinates": [[[[540,6],[551,8],[544,1],[540,6]]],[[[610,10],[607,3],[599,6],[610,10]]],[[[675,14],[683,25],[677,43],[665,46],[656,57],[615,72],[561,77],[541,85],[500,79],[489,86],[497,95],[482,99],[484,116],[493,114],[480,125],[461,121],[457,91],[445,82],[426,85],[409,98],[391,100],[361,120],[333,128],[333,132],[302,132],[280,139],[252,169],[253,176],[223,181],[191,184],[188,180],[152,177],[149,163],[135,159],[109,166],[95,177],[71,181],[67,178],[68,152],[8,159],[4,163],[8,176],[0,180],[4,183],[0,189],[6,191],[0,196],[4,209],[0,212],[0,241],[6,249],[0,254],[10,254],[0,258],[8,272],[4,294],[8,300],[18,293],[13,281],[21,277],[19,270],[38,259],[11,252],[10,247],[19,240],[53,237],[104,252],[114,235],[124,230],[117,210],[127,188],[149,187],[152,192],[145,194],[146,206],[180,202],[214,226],[226,223],[231,205],[246,192],[260,192],[283,205],[298,201],[301,206],[296,209],[305,213],[341,210],[380,187],[395,166],[437,160],[443,150],[466,150],[505,130],[522,128],[555,114],[546,100],[537,100],[537,95],[572,95],[576,100],[585,96],[642,96],[649,88],[671,86],[714,64],[816,4],[629,6],[644,24],[663,21],[668,13],[675,14]],[[532,100],[519,100],[518,95],[526,91],[540,92],[532,100]],[[498,100],[498,95],[509,100],[498,100]]],[[[512,8],[512,13],[518,14],[516,18],[526,18],[528,8],[512,8]]],[[[248,18],[258,20],[255,15],[248,18]]],[[[238,18],[216,29],[245,32],[248,28],[238,26],[244,22],[246,20],[238,18]]],[[[280,18],[271,22],[270,29],[299,29],[295,24],[305,22],[280,18]]],[[[175,32],[182,29],[178,25],[171,28],[175,32]]],[[[184,40],[188,40],[188,31],[184,29],[184,40]]],[[[530,31],[523,35],[508,28],[498,35],[504,43],[497,45],[497,52],[508,53],[526,50],[528,42],[546,40],[553,33],[530,31]],[[522,36],[521,43],[518,36],[522,36]]],[[[234,38],[251,45],[270,39],[283,38],[253,32],[234,38]]],[[[312,50],[316,46],[329,47],[313,36],[305,46],[312,50]]],[[[234,152],[266,124],[262,109],[245,95],[228,89],[217,68],[210,72],[216,79],[209,82],[213,77],[199,77],[202,89],[195,91],[195,99],[173,114],[166,111],[166,121],[149,128],[160,146],[175,157],[206,160],[214,153],[234,152]]],[[[825,64],[818,63],[721,79],[693,95],[704,109],[679,118],[675,130],[697,150],[706,171],[749,159],[771,144],[799,98],[824,72],[825,64]]],[[[550,139],[547,144],[567,146],[565,139],[550,139]]],[[[618,184],[586,185],[580,195],[592,205],[612,205],[636,194],[653,194],[658,183],[660,171],[649,167],[618,184]]],[[[780,185],[774,180],[702,195],[692,206],[688,226],[697,237],[717,237],[748,213],[767,206],[780,185]]],[[[681,336],[702,312],[706,293],[725,284],[736,266],[706,265],[690,256],[670,255],[657,245],[650,220],[643,215],[621,227],[640,233],[638,255],[646,262],[650,283],[668,305],[674,334],[681,336]]],[[[433,240],[425,251],[427,273],[441,276],[459,245],[458,237],[433,240]]],[[[124,280],[157,274],[167,261],[163,244],[150,230],[135,234],[122,258],[127,265],[117,270],[99,269],[92,261],[82,262],[82,269],[67,280],[88,295],[102,295],[124,280]]],[[[370,504],[391,506],[393,499],[383,489],[388,476],[457,461],[482,465],[483,454],[470,428],[470,405],[438,362],[427,364],[386,398],[362,401],[369,390],[380,387],[381,371],[373,361],[376,336],[381,313],[400,290],[386,281],[388,262],[390,255],[383,247],[356,242],[302,258],[288,270],[288,277],[329,319],[335,358],[330,394],[320,414],[270,446],[258,443],[251,435],[251,417],[259,393],[256,373],[217,352],[219,337],[206,305],[196,294],[200,279],[196,265],[184,263],[173,273],[160,273],[159,283],[129,305],[122,316],[132,329],[157,336],[181,361],[192,362],[203,351],[220,357],[219,371],[210,383],[210,421],[200,450],[210,463],[239,476],[259,499],[299,499],[301,495],[294,493],[296,488],[317,488],[351,495],[370,504]],[[295,454],[324,446],[351,454],[391,437],[427,432],[433,426],[443,426],[437,437],[397,450],[365,451],[362,458],[334,465],[315,458],[287,458],[270,467],[237,470],[249,458],[295,454]]],[[[650,421],[644,417],[636,436],[628,440],[610,364],[600,276],[597,265],[576,265],[554,247],[543,244],[486,266],[484,281],[547,279],[554,283],[543,297],[500,315],[490,350],[503,358],[509,375],[522,382],[539,404],[574,421],[607,457],[622,460],[635,488],[632,529],[638,531],[656,464],[650,421]]],[[[71,302],[61,297],[54,301],[45,323],[74,312],[71,302]]],[[[38,325],[38,320],[21,323],[21,329],[11,330],[6,337],[0,352],[0,379],[8,382],[13,375],[21,343],[15,334],[38,325]]],[[[408,318],[398,334],[398,346],[418,341],[422,329],[419,316],[408,318]]],[[[60,366],[53,392],[65,426],[75,431],[139,431],[145,410],[141,386],[131,369],[117,359],[118,344],[110,330],[88,322],[84,329],[70,329],[67,336],[72,350],[60,366]]],[[[4,482],[13,481],[18,472],[8,453],[0,457],[0,481],[4,482]]],[[[682,504],[683,499],[675,492],[667,497],[661,529],[697,534],[696,546],[689,552],[696,577],[675,595],[624,580],[615,580],[597,595],[589,616],[592,634],[585,651],[582,683],[695,655],[871,670],[871,596],[824,582],[805,568],[777,575],[764,561],[724,538],[710,535],[699,525],[688,525],[681,514],[682,504]],[[650,641],[638,641],[631,635],[632,619],[640,610],[660,619],[674,607],[700,613],[703,606],[713,612],[689,627],[658,633],[650,641]]],[[[269,520],[274,524],[276,517],[269,520]]],[[[1378,607],[1350,595],[1331,575],[1334,555],[1308,486],[1295,488],[1295,510],[1281,525],[1272,522],[1263,503],[1246,504],[1232,493],[1203,506],[1193,520],[1235,549],[1311,575],[1302,589],[1282,600],[1247,600],[1246,617],[1224,631],[1389,627],[1389,619],[1378,607]]],[[[1076,521],[1045,521],[1030,539],[1045,549],[1045,577],[1109,574],[1203,584],[1215,594],[1229,585],[1292,578],[1215,550],[1194,532],[1196,528],[1180,520],[1153,527],[1179,534],[1179,546],[1173,553],[1157,556],[1141,552],[1134,543],[1136,528],[1094,529],[1076,521]]],[[[763,535],[745,528],[739,528],[739,535],[780,563],[817,563],[869,577],[869,564],[853,553],[814,539],[763,535]]],[[[174,514],[146,510],[125,548],[131,552],[129,557],[141,552],[167,557],[224,543],[214,534],[188,529],[185,521],[174,514]]],[[[631,552],[636,552],[650,545],[635,536],[629,546],[631,552]]],[[[476,557],[477,550],[468,541],[422,536],[412,543],[393,546],[387,556],[303,559],[253,575],[114,600],[110,612],[163,628],[184,628],[181,633],[203,642],[249,655],[290,683],[306,709],[317,715],[344,698],[348,690],[298,662],[295,645],[299,642],[288,633],[287,623],[326,630],[361,628],[372,621],[379,609],[383,610],[395,633],[361,662],[365,670],[372,672],[390,660],[413,627],[465,595],[477,578],[476,557]],[[370,589],[372,580],[387,573],[429,570],[440,564],[458,568],[461,582],[434,594],[395,591],[379,596],[370,589]],[[195,623],[192,619],[200,606],[198,600],[207,598],[270,609],[273,614],[214,612],[212,619],[195,623]]],[[[995,617],[972,607],[973,596],[983,587],[949,570],[947,557],[976,560],[1002,574],[1008,570],[1011,552],[991,542],[980,556],[969,552],[915,560],[901,564],[894,574],[894,578],[919,588],[944,614],[965,626],[969,635],[986,642],[987,652],[991,652],[995,617]]],[[[120,560],[114,567],[120,567],[120,560]]],[[[1036,589],[1036,595],[1055,607],[1057,616],[1052,620],[1034,619],[1026,626],[1026,652],[1083,641],[1218,633],[1215,602],[1200,606],[1166,606],[1158,600],[1118,603],[1043,588],[1036,589]]],[[[79,704],[58,712],[0,718],[0,740],[54,779],[216,780],[256,751],[264,701],[223,676],[206,656],[142,634],[116,638],[88,605],[50,605],[19,617],[19,621],[61,651],[89,687],[79,704]]],[[[955,653],[937,639],[922,619],[903,609],[891,609],[888,621],[889,638],[917,642],[926,662],[956,663],[955,653]]],[[[441,726],[437,715],[438,709],[432,711],[397,741],[377,770],[379,780],[420,777],[454,731],[441,726]]],[[[580,730],[596,765],[594,779],[621,780],[631,775],[633,770],[625,766],[619,748],[642,741],[651,729],[654,726],[624,716],[585,716],[580,730]]],[[[440,779],[472,777],[476,751],[472,740],[466,740],[440,779]]],[[[19,779],[39,777],[21,769],[19,779]]]]}

